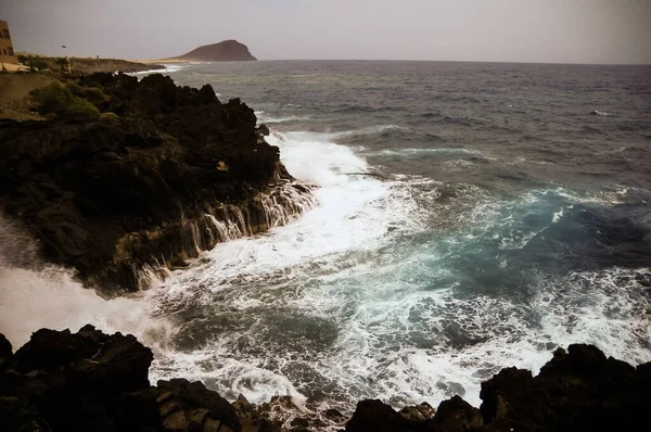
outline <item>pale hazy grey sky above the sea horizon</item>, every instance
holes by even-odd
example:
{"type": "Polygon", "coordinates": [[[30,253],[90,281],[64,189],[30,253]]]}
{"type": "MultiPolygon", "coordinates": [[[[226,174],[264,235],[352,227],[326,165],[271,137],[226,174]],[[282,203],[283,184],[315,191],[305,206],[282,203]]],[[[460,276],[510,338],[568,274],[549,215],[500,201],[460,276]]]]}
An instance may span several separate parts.
{"type": "Polygon", "coordinates": [[[651,0],[0,0],[14,48],[125,59],[651,63],[651,0]]]}

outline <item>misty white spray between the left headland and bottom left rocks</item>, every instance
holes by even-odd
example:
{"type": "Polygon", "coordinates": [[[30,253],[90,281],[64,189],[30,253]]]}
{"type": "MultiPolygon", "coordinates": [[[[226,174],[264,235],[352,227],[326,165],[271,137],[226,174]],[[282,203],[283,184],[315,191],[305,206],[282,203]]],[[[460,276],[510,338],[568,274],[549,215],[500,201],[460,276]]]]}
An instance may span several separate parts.
{"type": "Polygon", "coordinates": [[[157,346],[170,329],[150,318],[152,307],[135,297],[104,300],[85,289],[74,272],[39,263],[34,240],[0,217],[0,332],[14,350],[40,328],[77,331],[87,323],[136,334],[157,346]]]}

